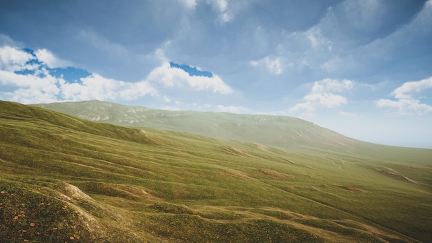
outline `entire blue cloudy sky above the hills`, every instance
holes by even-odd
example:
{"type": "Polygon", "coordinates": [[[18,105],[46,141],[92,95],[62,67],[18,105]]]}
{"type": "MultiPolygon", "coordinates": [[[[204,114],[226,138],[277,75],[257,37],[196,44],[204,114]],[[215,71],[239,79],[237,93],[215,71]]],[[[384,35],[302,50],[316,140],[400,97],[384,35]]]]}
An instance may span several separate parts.
{"type": "Polygon", "coordinates": [[[284,115],[432,148],[432,0],[0,0],[0,99],[284,115]]]}

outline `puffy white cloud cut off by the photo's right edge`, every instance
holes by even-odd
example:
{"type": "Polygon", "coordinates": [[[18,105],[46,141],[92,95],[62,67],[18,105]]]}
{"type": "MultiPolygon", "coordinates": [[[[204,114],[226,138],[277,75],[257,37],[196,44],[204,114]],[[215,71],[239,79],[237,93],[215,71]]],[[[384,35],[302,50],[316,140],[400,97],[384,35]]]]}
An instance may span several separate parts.
{"type": "Polygon", "coordinates": [[[393,90],[391,96],[395,97],[395,100],[380,99],[376,105],[379,108],[397,110],[398,115],[429,113],[432,112],[432,106],[421,101],[421,99],[428,97],[424,93],[429,89],[432,89],[432,77],[420,81],[409,81],[393,90]]]}

